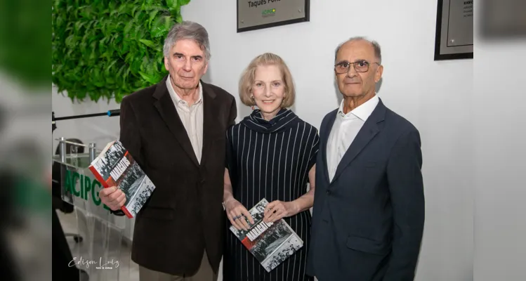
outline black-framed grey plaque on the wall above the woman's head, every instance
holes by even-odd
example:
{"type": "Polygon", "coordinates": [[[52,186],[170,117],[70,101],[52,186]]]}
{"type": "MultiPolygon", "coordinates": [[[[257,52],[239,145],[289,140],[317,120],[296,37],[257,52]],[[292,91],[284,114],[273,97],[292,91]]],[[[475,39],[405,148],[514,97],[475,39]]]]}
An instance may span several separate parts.
{"type": "Polygon", "coordinates": [[[237,32],[308,22],[310,0],[237,0],[237,32]]]}

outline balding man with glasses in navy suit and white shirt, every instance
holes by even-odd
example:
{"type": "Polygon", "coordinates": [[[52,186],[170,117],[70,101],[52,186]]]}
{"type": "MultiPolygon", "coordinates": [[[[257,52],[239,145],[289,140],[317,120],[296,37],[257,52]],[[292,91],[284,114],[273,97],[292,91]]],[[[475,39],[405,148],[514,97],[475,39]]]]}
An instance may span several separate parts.
{"type": "Polygon", "coordinates": [[[307,272],[320,281],[414,280],[424,223],[419,131],[376,96],[380,46],[336,48],[343,100],[320,128],[307,272]]]}

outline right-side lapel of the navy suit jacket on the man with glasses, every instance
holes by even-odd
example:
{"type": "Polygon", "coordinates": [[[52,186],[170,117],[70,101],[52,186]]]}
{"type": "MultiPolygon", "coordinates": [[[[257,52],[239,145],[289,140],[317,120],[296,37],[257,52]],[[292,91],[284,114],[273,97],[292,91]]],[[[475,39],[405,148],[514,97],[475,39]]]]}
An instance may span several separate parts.
{"type": "Polygon", "coordinates": [[[334,174],[334,178],[331,182],[336,181],[336,179],[338,178],[338,176],[341,175],[343,170],[346,169],[346,167],[351,162],[353,162],[357,155],[367,146],[367,144],[376,136],[376,134],[379,133],[379,131],[381,130],[381,126],[379,126],[379,123],[383,122],[385,116],[386,107],[385,105],[383,105],[381,100],[379,100],[379,103],[378,105],[376,105],[376,108],[373,110],[371,116],[367,118],[367,121],[362,126],[362,129],[360,129],[360,132],[358,132],[353,143],[350,144],[348,150],[343,155],[343,158],[338,164],[338,167],[336,168],[336,173],[334,174]]]}

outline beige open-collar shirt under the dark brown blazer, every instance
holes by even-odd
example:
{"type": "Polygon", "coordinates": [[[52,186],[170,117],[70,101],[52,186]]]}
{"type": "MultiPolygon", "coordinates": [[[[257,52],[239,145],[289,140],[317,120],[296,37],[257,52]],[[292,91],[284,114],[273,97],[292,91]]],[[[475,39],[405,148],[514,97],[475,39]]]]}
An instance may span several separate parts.
{"type": "Polygon", "coordinates": [[[180,121],[185,126],[192,148],[194,148],[195,157],[197,161],[201,163],[201,153],[203,149],[203,87],[199,82],[199,98],[193,105],[180,98],[171,86],[171,79],[166,79],[166,87],[170,93],[173,104],[176,105],[177,113],[180,117],[180,121]]]}

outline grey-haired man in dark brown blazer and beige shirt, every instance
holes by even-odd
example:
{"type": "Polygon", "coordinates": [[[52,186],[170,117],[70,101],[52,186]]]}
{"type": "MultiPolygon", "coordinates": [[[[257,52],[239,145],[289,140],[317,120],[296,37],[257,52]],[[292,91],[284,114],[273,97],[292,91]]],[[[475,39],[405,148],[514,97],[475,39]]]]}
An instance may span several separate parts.
{"type": "MultiPolygon", "coordinates": [[[[121,103],[120,140],[156,189],[136,216],[131,259],[141,281],[217,279],[223,255],[225,131],[235,98],[206,84],[210,58],[204,27],[182,22],[164,43],[169,75],[121,103]]],[[[119,211],[117,188],[100,191],[119,211]]]]}

